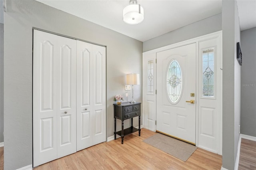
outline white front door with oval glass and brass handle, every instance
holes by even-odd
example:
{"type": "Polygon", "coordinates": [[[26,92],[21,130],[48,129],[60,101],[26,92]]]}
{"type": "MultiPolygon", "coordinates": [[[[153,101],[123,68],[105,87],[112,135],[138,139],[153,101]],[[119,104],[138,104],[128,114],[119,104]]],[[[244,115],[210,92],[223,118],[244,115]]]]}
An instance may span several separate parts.
{"type": "Polygon", "coordinates": [[[158,52],[156,58],[156,130],[195,144],[196,43],[158,52]]]}

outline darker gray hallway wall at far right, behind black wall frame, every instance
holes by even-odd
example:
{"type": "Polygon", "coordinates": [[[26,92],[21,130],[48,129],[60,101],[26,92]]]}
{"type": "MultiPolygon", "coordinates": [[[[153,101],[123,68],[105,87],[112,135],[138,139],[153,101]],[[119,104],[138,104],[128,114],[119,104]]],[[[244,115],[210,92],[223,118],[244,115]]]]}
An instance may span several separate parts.
{"type": "Polygon", "coordinates": [[[256,137],[256,27],[241,32],[241,133],[256,137]]]}

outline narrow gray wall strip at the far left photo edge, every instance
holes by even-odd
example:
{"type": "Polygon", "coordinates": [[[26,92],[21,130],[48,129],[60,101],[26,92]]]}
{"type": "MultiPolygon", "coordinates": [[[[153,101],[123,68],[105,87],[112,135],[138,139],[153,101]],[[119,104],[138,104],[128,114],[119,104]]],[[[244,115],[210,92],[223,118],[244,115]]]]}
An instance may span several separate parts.
{"type": "Polygon", "coordinates": [[[4,142],[4,24],[0,23],[0,142],[4,142]]]}

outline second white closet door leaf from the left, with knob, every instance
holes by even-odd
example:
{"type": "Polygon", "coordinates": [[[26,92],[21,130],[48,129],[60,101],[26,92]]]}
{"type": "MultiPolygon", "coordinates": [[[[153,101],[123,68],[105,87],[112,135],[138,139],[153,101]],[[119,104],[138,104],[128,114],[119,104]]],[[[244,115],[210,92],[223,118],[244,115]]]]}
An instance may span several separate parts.
{"type": "Polygon", "coordinates": [[[76,40],[58,36],[58,158],[76,152],[76,40]]]}

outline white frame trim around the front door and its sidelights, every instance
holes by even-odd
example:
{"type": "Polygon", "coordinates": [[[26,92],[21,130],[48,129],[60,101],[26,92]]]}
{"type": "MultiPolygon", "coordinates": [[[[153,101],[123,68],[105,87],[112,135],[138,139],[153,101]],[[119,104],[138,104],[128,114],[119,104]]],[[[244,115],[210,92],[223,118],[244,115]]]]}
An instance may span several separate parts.
{"type": "MultiPolygon", "coordinates": [[[[199,51],[198,51],[198,47],[199,47],[199,42],[200,41],[206,41],[206,40],[210,40],[210,39],[213,39],[213,38],[220,38],[220,68],[222,69],[222,30],[221,31],[218,31],[218,32],[214,32],[214,33],[211,33],[211,34],[206,34],[204,36],[199,36],[199,37],[196,37],[196,38],[192,38],[190,40],[185,40],[185,41],[182,41],[182,42],[178,42],[178,43],[174,43],[174,44],[171,44],[171,45],[166,45],[164,47],[160,47],[160,48],[157,48],[157,49],[152,49],[150,51],[145,51],[143,52],[143,55],[149,55],[149,54],[152,54],[152,53],[158,53],[160,51],[165,51],[165,50],[168,50],[168,49],[172,49],[172,48],[176,48],[176,47],[180,47],[180,46],[184,46],[184,45],[189,45],[191,43],[196,43],[196,83],[198,83],[198,75],[199,75],[199,51]]],[[[144,87],[143,87],[144,88],[144,87]]],[[[196,94],[199,94],[199,87],[196,86],[196,94]]],[[[144,95],[142,95],[142,101],[144,101],[144,95]]],[[[156,97],[155,97],[156,99],[156,97]]],[[[199,100],[200,97],[198,95],[196,95],[196,101],[198,103],[196,103],[196,146],[197,144],[199,143],[199,100]]],[[[218,133],[218,153],[217,154],[220,154],[222,155],[222,71],[220,72],[220,114],[218,115],[219,116],[219,133],[218,133]]],[[[145,107],[145,106],[144,106],[145,107]]],[[[142,112],[144,112],[142,110],[142,112]]],[[[156,110],[154,111],[155,114],[156,114],[156,110]]],[[[142,113],[142,114],[146,114],[146,113],[142,113]]],[[[156,119],[156,118],[155,118],[156,119]]],[[[145,124],[145,121],[143,119],[143,124],[145,124]]],[[[154,120],[156,121],[156,120],[154,120]]],[[[147,128],[147,127],[145,127],[147,128]]],[[[154,131],[156,131],[156,126],[155,126],[155,129],[154,131]]],[[[207,148],[204,148],[204,149],[207,149],[207,148]]],[[[210,152],[212,152],[211,150],[209,150],[210,152]]]]}

